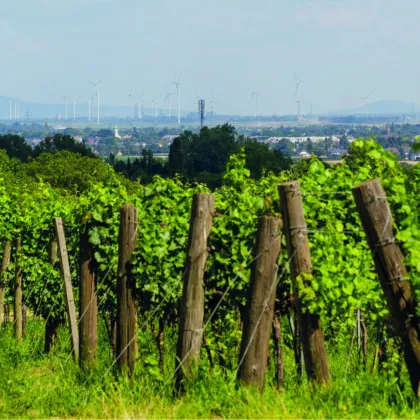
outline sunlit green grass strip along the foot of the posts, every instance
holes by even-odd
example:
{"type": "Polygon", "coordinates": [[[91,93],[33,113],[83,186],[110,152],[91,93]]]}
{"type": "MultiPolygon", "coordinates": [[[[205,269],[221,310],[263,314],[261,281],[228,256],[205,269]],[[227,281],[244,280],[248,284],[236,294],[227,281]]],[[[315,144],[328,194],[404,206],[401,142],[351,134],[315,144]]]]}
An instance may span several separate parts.
{"type": "Polygon", "coordinates": [[[118,379],[113,357],[101,330],[96,368],[83,372],[69,358],[65,328],[52,354],[42,354],[43,323],[28,322],[18,344],[11,326],[0,332],[1,418],[419,418],[407,374],[371,375],[354,352],[346,379],[348,349],[329,347],[332,383],[319,387],[299,381],[289,349],[285,351],[285,390],[273,386],[272,366],[263,394],[238,387],[232,369],[209,371],[203,352],[202,369],[186,393],[176,397],[165,379],[175,366],[174,331],[167,332],[165,372],[157,367],[150,332],[139,332],[135,380],[118,379]]]}

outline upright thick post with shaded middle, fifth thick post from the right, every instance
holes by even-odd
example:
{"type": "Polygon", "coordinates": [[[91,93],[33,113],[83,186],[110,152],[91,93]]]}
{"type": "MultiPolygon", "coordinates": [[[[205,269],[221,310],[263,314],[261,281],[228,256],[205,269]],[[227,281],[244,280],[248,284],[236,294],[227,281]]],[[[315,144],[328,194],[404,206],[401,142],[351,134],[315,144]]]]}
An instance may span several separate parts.
{"type": "Polygon", "coordinates": [[[138,212],[131,204],[120,211],[117,271],[117,358],[121,373],[134,372],[137,352],[136,282],[131,272],[131,257],[136,249],[138,212]]]}

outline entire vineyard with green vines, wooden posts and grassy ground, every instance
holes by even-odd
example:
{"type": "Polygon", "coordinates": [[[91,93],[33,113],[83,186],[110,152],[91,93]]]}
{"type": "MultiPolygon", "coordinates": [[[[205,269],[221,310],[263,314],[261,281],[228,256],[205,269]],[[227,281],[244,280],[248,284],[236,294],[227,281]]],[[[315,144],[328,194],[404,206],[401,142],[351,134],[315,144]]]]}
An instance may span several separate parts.
{"type": "Polygon", "coordinates": [[[214,191],[0,153],[0,416],[418,417],[420,166],[350,151],[214,191]]]}

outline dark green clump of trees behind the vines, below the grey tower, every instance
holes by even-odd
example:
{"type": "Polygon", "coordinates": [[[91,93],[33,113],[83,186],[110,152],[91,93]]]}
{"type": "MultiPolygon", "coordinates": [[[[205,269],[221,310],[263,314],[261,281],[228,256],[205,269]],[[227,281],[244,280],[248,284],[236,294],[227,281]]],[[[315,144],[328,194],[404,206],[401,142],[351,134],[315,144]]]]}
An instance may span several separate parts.
{"type": "Polygon", "coordinates": [[[167,161],[156,159],[150,150],[143,149],[141,158],[123,161],[110,156],[109,162],[117,172],[130,179],[141,178],[142,182],[148,182],[156,174],[180,176],[213,188],[221,185],[230,156],[241,149],[244,150],[251,177],[255,179],[265,172],[278,174],[292,164],[291,158],[281,150],[271,150],[267,144],[237,135],[230,124],[203,127],[199,133],[184,131],[172,142],[167,161]]]}

